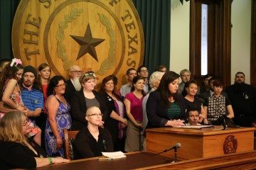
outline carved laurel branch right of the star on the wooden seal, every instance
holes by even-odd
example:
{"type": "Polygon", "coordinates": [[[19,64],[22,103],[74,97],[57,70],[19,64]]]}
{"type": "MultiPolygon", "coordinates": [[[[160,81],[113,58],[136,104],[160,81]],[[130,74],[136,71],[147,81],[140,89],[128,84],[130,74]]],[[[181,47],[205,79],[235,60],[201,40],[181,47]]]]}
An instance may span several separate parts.
{"type": "Polygon", "coordinates": [[[111,28],[111,23],[109,19],[102,13],[97,13],[100,16],[101,23],[107,28],[107,34],[110,36],[110,49],[108,52],[108,57],[105,58],[105,60],[102,61],[100,65],[100,69],[95,72],[96,74],[99,74],[103,76],[107,70],[111,69],[114,65],[114,61],[116,60],[116,47],[117,47],[117,41],[116,41],[116,34],[115,31],[111,28]]]}

